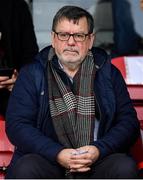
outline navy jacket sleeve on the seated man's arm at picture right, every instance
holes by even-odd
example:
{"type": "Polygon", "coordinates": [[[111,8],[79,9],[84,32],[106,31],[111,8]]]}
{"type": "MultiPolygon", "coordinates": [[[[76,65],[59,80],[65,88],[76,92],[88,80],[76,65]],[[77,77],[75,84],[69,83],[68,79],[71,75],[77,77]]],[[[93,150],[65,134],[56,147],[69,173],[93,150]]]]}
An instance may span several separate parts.
{"type": "Polygon", "coordinates": [[[109,130],[94,142],[94,145],[100,150],[100,159],[112,153],[127,152],[140,133],[137,114],[129,97],[125,81],[114,66],[112,66],[112,80],[116,111],[112,122],[110,122],[109,130]]]}

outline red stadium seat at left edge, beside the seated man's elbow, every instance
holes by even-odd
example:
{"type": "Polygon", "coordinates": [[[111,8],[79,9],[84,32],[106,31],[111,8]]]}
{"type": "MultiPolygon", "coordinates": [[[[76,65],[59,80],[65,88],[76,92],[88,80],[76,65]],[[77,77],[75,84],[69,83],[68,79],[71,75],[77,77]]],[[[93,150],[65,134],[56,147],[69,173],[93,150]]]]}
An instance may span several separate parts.
{"type": "Polygon", "coordinates": [[[0,116],[0,179],[4,178],[13,152],[14,146],[9,142],[5,133],[5,120],[0,116]]]}

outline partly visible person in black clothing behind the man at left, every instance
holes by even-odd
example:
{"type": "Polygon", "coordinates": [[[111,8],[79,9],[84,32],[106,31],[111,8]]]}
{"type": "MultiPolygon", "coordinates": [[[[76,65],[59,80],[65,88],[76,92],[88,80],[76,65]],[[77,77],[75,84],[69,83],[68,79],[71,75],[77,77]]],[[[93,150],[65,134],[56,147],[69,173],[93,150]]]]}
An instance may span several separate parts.
{"type": "Polygon", "coordinates": [[[13,69],[10,77],[0,74],[0,114],[5,115],[18,71],[38,53],[32,16],[24,0],[0,1],[0,34],[0,69],[13,69]]]}

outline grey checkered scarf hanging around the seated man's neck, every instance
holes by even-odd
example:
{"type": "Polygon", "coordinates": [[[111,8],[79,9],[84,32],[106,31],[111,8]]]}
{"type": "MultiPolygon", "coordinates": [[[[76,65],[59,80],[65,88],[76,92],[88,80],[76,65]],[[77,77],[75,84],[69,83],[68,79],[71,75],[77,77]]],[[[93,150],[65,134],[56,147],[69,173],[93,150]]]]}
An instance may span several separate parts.
{"type": "Polygon", "coordinates": [[[55,131],[67,148],[89,145],[93,140],[95,104],[94,59],[91,52],[73,78],[73,90],[65,85],[52,64],[54,49],[48,55],[49,104],[55,131]]]}

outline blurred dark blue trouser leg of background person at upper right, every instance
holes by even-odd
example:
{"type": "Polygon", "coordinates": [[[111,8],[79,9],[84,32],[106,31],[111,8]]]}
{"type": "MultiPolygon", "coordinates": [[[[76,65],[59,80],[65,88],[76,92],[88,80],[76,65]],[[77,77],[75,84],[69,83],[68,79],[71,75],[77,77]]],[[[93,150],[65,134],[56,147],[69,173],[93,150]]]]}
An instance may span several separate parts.
{"type": "Polygon", "coordinates": [[[111,56],[139,54],[139,35],[137,34],[128,0],[111,0],[114,24],[114,45],[111,56]]]}

